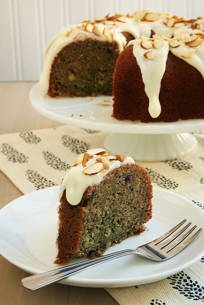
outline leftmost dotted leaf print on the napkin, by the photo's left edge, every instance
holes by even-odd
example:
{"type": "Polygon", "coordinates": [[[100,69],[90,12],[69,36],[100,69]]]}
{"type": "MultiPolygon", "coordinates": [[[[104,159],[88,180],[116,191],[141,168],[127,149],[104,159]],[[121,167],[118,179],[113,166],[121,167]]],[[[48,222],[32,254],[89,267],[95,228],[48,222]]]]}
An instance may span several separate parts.
{"type": "Polygon", "coordinates": [[[26,163],[28,162],[28,156],[25,156],[22,152],[17,151],[12,145],[8,143],[2,144],[2,154],[4,154],[7,159],[13,163],[26,163]]]}

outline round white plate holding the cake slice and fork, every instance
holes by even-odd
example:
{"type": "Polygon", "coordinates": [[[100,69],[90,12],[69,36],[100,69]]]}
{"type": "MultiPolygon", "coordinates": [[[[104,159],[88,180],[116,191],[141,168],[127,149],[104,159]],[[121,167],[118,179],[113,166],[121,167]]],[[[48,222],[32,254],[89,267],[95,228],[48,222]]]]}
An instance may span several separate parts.
{"type": "MultiPolygon", "coordinates": [[[[12,264],[37,274],[59,267],[54,265],[57,234],[57,205],[59,186],[24,195],[0,210],[0,253],[12,264]]],[[[172,192],[154,188],[153,217],[147,230],[106,253],[121,249],[136,249],[164,234],[186,218],[203,227],[204,211],[195,203],[172,192]]],[[[126,287],[166,278],[198,261],[204,254],[204,230],[183,251],[164,262],[135,255],[118,258],[93,267],[61,283],[83,287],[126,287]]],[[[73,259],[71,263],[85,260],[73,259]]]]}

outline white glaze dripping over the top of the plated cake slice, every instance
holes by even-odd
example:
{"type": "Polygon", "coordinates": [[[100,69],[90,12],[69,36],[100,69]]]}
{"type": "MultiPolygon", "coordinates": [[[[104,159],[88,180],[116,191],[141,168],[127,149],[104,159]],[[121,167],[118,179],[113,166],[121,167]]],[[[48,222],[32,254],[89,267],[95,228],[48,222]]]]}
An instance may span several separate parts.
{"type": "MultiPolygon", "coordinates": [[[[108,154],[105,149],[90,149],[87,150],[87,153],[92,155],[92,153],[94,153],[96,150],[98,152],[104,152],[102,156],[106,156],[108,158],[108,154]]],[[[90,167],[92,164],[96,164],[98,162],[97,159],[100,158],[100,155],[94,154],[92,156],[93,157],[91,157],[91,159],[86,162],[86,166],[83,166],[82,163],[78,163],[76,166],[72,166],[69,169],[61,183],[59,190],[59,200],[61,199],[64,190],[66,190],[66,198],[69,204],[77,205],[80,203],[83,193],[88,186],[99,184],[107,175],[107,173],[109,173],[114,168],[117,168],[123,164],[135,163],[131,157],[124,156],[123,161],[110,160],[109,162],[106,162],[109,163],[108,165],[106,164],[106,170],[100,170],[96,174],[84,174],[83,171],[90,167]]]]}

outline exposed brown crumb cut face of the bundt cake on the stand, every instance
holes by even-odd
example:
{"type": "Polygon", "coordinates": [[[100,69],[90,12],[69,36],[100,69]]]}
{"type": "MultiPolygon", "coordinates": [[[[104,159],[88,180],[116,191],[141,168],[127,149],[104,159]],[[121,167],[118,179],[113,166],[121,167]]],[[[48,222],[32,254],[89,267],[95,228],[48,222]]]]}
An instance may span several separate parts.
{"type": "Polygon", "coordinates": [[[65,46],[52,64],[48,95],[111,95],[118,55],[115,41],[86,39],[65,46]]]}

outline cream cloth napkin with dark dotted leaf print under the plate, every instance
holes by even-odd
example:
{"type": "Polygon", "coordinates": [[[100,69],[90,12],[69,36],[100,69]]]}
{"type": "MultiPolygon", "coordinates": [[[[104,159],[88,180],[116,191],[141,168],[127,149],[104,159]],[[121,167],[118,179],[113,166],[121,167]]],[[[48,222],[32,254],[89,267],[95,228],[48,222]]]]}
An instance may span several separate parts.
{"type": "MultiPolygon", "coordinates": [[[[76,157],[102,147],[108,133],[63,125],[0,136],[0,169],[21,192],[59,185],[76,157]]],[[[137,162],[153,186],[192,200],[204,209],[204,132],[194,133],[198,145],[181,159],[137,162]]],[[[107,288],[121,305],[204,305],[204,257],[164,280],[126,288],[107,288]]]]}

